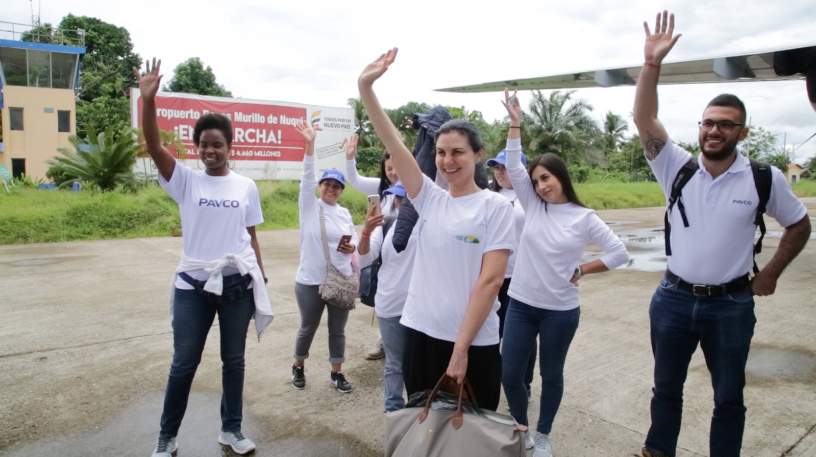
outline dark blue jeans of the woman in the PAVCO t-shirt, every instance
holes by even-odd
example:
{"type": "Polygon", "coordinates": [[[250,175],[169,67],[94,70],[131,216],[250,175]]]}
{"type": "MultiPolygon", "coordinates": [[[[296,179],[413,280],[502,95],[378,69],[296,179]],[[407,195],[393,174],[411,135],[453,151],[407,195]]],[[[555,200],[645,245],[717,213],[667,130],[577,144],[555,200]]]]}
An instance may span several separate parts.
{"type": "MultiPolygon", "coordinates": [[[[224,277],[224,289],[242,281],[241,275],[224,277]]],[[[173,301],[173,364],[167,379],[162,411],[162,437],[175,437],[179,433],[190,386],[202,360],[207,333],[218,314],[221,334],[221,429],[235,432],[241,429],[244,390],[244,349],[246,329],[255,313],[252,290],[243,297],[225,304],[215,305],[200,292],[175,289],[173,301]]]]}

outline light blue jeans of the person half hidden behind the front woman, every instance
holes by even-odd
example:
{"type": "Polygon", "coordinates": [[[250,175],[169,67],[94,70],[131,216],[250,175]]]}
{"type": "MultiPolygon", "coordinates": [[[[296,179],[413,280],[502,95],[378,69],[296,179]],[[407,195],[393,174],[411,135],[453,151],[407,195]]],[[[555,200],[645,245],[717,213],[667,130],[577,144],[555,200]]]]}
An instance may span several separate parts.
{"type": "Polygon", "coordinates": [[[400,323],[400,316],[396,318],[377,316],[377,321],[385,351],[383,376],[385,411],[397,411],[406,406],[406,401],[402,398],[402,389],[405,387],[405,380],[402,379],[402,354],[405,353],[407,327],[400,323]]]}

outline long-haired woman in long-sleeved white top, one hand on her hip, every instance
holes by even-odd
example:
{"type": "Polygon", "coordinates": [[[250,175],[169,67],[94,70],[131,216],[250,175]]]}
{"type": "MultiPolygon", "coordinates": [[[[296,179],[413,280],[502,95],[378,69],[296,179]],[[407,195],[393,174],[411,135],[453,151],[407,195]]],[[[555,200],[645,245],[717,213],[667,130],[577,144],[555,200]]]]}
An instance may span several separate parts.
{"type": "MultiPolygon", "coordinates": [[[[521,163],[521,105],[510,102],[507,173],[525,211],[516,268],[508,290],[510,304],[504,319],[502,384],[510,414],[528,424],[524,377],[528,359],[539,337],[542,389],[534,457],[552,457],[549,433],[564,393],[564,363],[578,329],[578,282],[585,275],[609,271],[628,261],[623,242],[575,194],[564,161],[552,153],[536,157],[529,174],[521,163]],[[605,256],[582,264],[588,243],[603,248],[605,256]]],[[[530,433],[530,432],[528,432],[530,433]]]]}

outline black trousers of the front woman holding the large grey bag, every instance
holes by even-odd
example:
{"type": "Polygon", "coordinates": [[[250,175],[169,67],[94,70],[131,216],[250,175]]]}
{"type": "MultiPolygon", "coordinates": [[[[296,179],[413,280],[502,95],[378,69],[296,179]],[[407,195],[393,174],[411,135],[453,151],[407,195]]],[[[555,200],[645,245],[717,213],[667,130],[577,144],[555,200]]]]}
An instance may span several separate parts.
{"type": "MultiPolygon", "coordinates": [[[[406,393],[433,389],[445,374],[454,353],[453,341],[439,340],[406,327],[406,346],[402,354],[402,377],[406,393]]],[[[465,373],[479,407],[496,411],[502,394],[502,355],[499,345],[470,346],[465,373]]]]}

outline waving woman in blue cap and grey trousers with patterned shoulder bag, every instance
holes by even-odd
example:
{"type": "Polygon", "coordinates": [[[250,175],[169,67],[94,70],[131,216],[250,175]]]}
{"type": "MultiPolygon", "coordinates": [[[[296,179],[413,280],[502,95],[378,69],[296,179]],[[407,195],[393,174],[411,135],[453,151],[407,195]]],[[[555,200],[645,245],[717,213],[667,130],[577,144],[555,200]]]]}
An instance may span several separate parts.
{"type": "Polygon", "coordinates": [[[340,393],[352,391],[352,385],[346,380],[342,364],[346,351],[346,322],[348,310],[323,301],[319,288],[326,279],[326,251],[323,248],[321,223],[326,226],[326,239],[329,244],[330,261],[344,275],[353,274],[352,256],[357,246],[357,231],[348,209],[337,204],[337,199],[346,187],[345,178],[336,169],[323,173],[320,181],[315,174],[314,139],[315,131],[308,125],[295,127],[306,140],[304,155],[304,176],[300,179],[298,196],[300,223],[300,266],[295,275],[295,299],[300,309],[300,329],[295,340],[295,365],[292,366],[292,387],[306,388],[304,363],[308,350],[312,346],[314,334],[323,310],[329,314],[329,363],[331,374],[329,382],[340,393]],[[319,190],[320,197],[314,195],[319,190]],[[344,235],[350,235],[348,243],[340,244],[344,235]],[[335,248],[339,246],[339,248],[335,248]]]}

